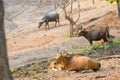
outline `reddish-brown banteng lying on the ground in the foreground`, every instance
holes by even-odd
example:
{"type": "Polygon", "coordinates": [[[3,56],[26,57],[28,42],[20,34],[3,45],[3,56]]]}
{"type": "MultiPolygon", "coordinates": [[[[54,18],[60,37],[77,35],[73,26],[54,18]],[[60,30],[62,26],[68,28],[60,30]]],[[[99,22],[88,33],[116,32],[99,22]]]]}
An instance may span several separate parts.
{"type": "Polygon", "coordinates": [[[82,71],[91,69],[97,71],[101,67],[101,64],[79,54],[58,54],[49,67],[53,70],[82,71]]]}

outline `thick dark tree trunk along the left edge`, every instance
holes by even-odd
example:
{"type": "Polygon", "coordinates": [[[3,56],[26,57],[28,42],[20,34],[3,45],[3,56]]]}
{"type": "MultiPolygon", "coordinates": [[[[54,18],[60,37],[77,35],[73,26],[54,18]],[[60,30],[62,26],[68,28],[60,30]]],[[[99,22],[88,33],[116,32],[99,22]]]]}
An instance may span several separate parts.
{"type": "Polygon", "coordinates": [[[0,80],[13,80],[7,58],[3,0],[0,0],[0,80]]]}

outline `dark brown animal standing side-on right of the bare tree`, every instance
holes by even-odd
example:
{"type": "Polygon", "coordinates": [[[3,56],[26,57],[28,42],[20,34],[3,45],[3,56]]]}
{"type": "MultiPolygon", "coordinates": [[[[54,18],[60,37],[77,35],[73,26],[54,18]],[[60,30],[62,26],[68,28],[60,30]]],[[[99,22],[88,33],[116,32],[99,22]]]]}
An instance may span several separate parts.
{"type": "Polygon", "coordinates": [[[90,31],[83,30],[79,32],[78,36],[84,36],[89,41],[90,45],[93,44],[93,41],[99,41],[101,39],[103,39],[104,42],[108,41],[108,32],[106,29],[90,31]]]}

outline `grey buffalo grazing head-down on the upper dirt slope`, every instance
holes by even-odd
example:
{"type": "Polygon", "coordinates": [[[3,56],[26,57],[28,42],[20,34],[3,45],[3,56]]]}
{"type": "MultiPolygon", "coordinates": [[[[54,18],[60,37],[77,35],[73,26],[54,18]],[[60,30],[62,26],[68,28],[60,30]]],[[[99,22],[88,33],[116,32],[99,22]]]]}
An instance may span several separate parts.
{"type": "Polygon", "coordinates": [[[44,15],[44,17],[42,18],[42,21],[39,22],[38,28],[40,28],[42,26],[42,24],[45,23],[45,29],[47,26],[50,29],[49,22],[53,22],[53,21],[55,21],[55,26],[56,26],[57,22],[59,24],[59,14],[55,11],[48,12],[44,15]]]}

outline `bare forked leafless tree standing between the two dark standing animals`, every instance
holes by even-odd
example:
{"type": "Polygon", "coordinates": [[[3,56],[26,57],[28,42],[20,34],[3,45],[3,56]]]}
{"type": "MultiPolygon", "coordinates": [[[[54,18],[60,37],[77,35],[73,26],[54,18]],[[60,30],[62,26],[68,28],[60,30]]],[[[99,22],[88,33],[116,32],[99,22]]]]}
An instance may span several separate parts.
{"type": "Polygon", "coordinates": [[[73,0],[55,0],[55,3],[64,11],[65,19],[70,22],[70,37],[73,37],[73,25],[77,25],[76,23],[79,21],[80,18],[80,2],[78,4],[78,18],[76,20],[73,20],[73,0]],[[70,12],[67,12],[66,9],[69,5],[70,12]]]}

